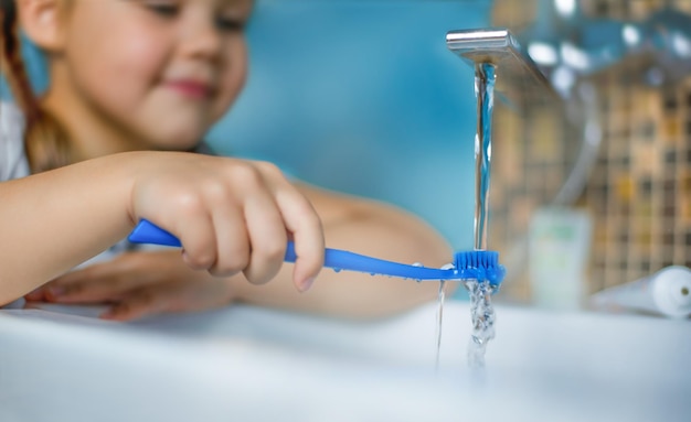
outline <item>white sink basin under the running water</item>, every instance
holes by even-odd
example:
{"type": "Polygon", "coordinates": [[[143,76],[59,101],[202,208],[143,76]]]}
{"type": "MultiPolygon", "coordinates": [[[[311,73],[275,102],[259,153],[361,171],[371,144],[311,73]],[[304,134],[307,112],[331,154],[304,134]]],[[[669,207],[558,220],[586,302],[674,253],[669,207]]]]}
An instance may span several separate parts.
{"type": "MultiPolygon", "coordinates": [[[[0,311],[0,421],[690,421],[691,322],[467,303],[375,323],[248,306],[119,324],[0,311]]],[[[77,315],[75,315],[77,314],[77,315]]]]}

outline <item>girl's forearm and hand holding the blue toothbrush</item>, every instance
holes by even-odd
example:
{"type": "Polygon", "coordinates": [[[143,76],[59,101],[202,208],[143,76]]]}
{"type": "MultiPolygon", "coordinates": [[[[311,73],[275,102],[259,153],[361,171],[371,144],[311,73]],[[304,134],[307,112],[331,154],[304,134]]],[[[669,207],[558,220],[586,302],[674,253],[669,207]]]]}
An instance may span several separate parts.
{"type": "Polygon", "coordinates": [[[190,267],[216,274],[268,281],[288,234],[299,289],[323,260],[319,217],[267,163],[129,152],[0,183],[0,304],[106,249],[140,218],[178,236],[190,267]]]}

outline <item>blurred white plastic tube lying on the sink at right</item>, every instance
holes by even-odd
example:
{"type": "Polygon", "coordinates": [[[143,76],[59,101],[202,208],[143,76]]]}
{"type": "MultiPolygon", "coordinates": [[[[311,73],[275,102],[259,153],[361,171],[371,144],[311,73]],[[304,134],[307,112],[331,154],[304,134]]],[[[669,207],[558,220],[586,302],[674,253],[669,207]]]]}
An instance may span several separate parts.
{"type": "Polygon", "coordinates": [[[691,270],[667,267],[650,277],[605,289],[591,297],[597,309],[630,309],[673,318],[691,315],[691,270]]]}

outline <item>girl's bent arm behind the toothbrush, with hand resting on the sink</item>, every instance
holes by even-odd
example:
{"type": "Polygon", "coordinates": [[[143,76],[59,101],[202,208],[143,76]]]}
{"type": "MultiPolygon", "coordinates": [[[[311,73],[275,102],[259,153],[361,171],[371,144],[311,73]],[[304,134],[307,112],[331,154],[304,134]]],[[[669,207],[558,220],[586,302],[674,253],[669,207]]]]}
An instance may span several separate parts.
{"type": "MultiPolygon", "coordinates": [[[[318,210],[327,245],[400,262],[440,267],[451,260],[445,241],[427,225],[376,202],[301,186],[318,210]]],[[[291,266],[272,283],[249,285],[242,274],[217,279],[182,266],[177,251],[134,252],[72,272],[32,293],[62,303],[115,302],[107,317],[211,309],[231,302],[347,317],[391,315],[436,297],[439,284],[357,272],[323,270],[306,294],[290,282],[291,266]],[[57,294],[60,293],[60,294],[57,294]]],[[[455,286],[449,286],[447,291],[455,286]]]]}

